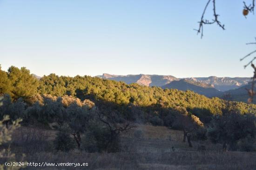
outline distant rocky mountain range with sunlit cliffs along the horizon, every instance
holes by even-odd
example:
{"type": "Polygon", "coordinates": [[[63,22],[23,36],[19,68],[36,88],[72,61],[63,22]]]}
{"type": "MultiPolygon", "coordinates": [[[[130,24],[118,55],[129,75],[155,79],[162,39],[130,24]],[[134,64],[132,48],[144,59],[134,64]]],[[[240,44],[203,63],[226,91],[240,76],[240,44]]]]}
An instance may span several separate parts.
{"type": "MultiPolygon", "coordinates": [[[[130,83],[138,83],[143,86],[158,86],[161,88],[175,88],[186,91],[191,90],[195,93],[205,95],[207,97],[220,97],[223,94],[230,93],[232,100],[247,102],[248,94],[245,88],[250,88],[250,77],[188,77],[177,78],[175,76],[162,75],[110,75],[104,73],[103,79],[115,80],[130,83]]],[[[254,102],[256,103],[256,102],[254,102]]]]}

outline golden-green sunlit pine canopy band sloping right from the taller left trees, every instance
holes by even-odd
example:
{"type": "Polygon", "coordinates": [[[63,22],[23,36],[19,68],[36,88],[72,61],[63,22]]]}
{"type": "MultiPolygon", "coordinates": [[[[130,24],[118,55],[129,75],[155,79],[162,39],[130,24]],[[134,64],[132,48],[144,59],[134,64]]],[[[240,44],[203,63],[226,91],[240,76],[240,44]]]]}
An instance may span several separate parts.
{"type": "Polygon", "coordinates": [[[223,105],[222,100],[218,98],[209,99],[192,91],[163,90],[138,84],[127,85],[123,82],[102,80],[90,76],[59,77],[54,74],[44,76],[40,79],[39,92],[57,96],[72,94],[80,99],[100,99],[120,105],[131,102],[140,107],[159,104],[161,107],[170,108],[176,106],[202,108],[211,114],[220,113],[223,105]]]}

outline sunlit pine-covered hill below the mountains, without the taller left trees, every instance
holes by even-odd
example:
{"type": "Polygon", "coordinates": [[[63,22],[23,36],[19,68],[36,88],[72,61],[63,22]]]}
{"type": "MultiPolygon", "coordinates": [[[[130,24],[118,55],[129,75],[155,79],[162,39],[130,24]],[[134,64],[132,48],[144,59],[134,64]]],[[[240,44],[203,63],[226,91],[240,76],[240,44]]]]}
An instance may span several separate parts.
{"type": "MultiPolygon", "coordinates": [[[[81,100],[89,99],[96,103],[99,101],[112,103],[118,105],[116,108],[119,108],[119,113],[130,115],[137,112],[140,113],[140,117],[155,114],[154,111],[164,115],[169,109],[185,107],[200,120],[204,120],[211,117],[212,114],[221,113],[224,105],[219,98],[209,99],[190,90],[147,87],[136,83],[126,84],[91,76],[67,77],[51,74],[40,79],[38,89],[40,94],[72,95],[81,100]],[[130,110],[132,107],[127,107],[131,105],[135,106],[137,111],[130,110]]],[[[250,108],[256,108],[256,105],[236,102],[236,107],[242,113],[247,113],[250,108]]]]}

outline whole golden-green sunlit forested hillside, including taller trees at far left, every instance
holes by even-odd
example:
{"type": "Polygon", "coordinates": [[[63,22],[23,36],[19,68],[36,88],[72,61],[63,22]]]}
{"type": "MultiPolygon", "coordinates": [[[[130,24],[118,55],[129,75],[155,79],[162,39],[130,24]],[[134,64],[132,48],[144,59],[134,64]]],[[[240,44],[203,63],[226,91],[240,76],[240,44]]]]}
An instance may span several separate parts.
{"type": "MultiPolygon", "coordinates": [[[[207,117],[221,114],[225,105],[225,102],[219,98],[209,99],[189,90],[184,92],[176,89],[145,87],[135,83],[128,85],[124,82],[91,76],[68,77],[50,74],[37,80],[30,75],[28,69],[18,69],[13,66],[8,69],[8,72],[1,70],[0,74],[0,93],[9,94],[14,101],[20,97],[25,101],[33,101],[36,94],[71,95],[81,100],[89,99],[95,103],[111,105],[111,107],[115,105],[115,109],[126,116],[132,112],[132,109],[127,108],[133,106],[140,110],[140,116],[143,115],[143,119],[149,119],[146,115],[148,113],[153,115],[154,111],[164,113],[159,116],[166,116],[169,109],[184,107],[200,119],[209,120],[207,117]]],[[[241,113],[256,109],[256,105],[233,103],[241,113]]]]}

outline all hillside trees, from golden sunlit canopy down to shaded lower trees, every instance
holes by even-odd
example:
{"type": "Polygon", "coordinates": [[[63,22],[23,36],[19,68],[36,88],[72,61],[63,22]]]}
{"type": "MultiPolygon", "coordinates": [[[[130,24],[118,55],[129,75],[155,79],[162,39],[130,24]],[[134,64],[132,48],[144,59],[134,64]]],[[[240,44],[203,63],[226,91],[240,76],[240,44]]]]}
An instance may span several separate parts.
{"type": "Polygon", "coordinates": [[[6,127],[18,118],[24,126],[54,126],[59,130],[54,141],[57,150],[119,151],[120,133],[132,128],[131,122],[180,129],[190,147],[191,139],[205,140],[208,135],[213,142],[236,150],[234,145],[246,139],[254,141],[256,135],[253,104],[91,76],[50,74],[37,80],[28,69],[13,66],[7,72],[0,70],[0,75],[0,94],[4,95],[0,117],[10,116],[4,121],[6,127]],[[217,126],[216,120],[223,126],[217,126]],[[229,126],[233,124],[225,120],[234,120],[239,126],[232,130],[229,126]],[[252,132],[247,132],[248,128],[252,132]],[[235,130],[237,137],[230,139],[233,136],[227,134],[235,130]]]}

